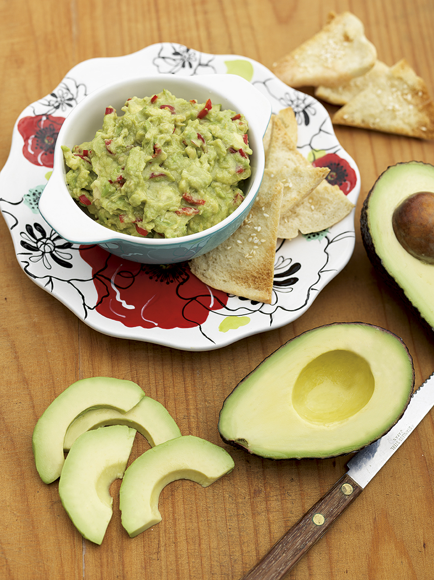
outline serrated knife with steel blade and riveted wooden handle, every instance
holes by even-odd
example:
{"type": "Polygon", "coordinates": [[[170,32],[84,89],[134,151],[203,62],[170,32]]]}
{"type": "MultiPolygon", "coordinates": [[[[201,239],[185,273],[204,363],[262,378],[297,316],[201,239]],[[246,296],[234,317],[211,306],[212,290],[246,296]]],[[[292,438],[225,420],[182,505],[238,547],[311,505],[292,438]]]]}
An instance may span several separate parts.
{"type": "Polygon", "coordinates": [[[347,463],[348,472],[275,543],[241,580],[279,580],[293,568],[360,495],[434,405],[434,373],[413,393],[392,429],[361,449],[347,463]]]}

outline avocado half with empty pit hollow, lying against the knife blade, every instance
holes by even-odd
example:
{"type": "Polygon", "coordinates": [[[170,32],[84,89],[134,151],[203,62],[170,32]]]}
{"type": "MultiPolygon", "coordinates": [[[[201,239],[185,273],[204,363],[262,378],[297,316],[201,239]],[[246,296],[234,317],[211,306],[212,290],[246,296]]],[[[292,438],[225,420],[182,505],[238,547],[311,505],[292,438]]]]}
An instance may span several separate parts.
{"type": "Polygon", "coordinates": [[[326,458],[365,447],[409,404],[413,360],[395,334],[363,322],[302,333],[225,399],[225,443],[270,459],[326,458]]]}

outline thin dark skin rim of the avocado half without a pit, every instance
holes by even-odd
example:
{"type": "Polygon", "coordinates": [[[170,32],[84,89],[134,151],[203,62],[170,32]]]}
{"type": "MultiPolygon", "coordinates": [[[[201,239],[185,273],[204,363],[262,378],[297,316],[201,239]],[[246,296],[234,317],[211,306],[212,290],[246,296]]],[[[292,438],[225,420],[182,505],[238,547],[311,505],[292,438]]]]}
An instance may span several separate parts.
{"type": "MultiPolygon", "coordinates": [[[[300,338],[301,336],[308,334],[308,333],[312,333],[314,331],[320,330],[322,328],[326,328],[326,327],[337,327],[339,325],[363,325],[365,327],[371,327],[371,328],[375,328],[379,331],[388,333],[388,335],[393,336],[395,339],[399,340],[399,342],[401,343],[401,345],[403,346],[403,349],[407,355],[407,357],[409,358],[410,364],[411,364],[411,369],[412,369],[412,379],[411,379],[411,389],[409,391],[409,396],[407,397],[406,403],[404,404],[404,407],[402,409],[402,412],[400,413],[399,416],[396,417],[395,422],[390,425],[388,427],[388,429],[384,430],[384,432],[378,434],[377,437],[373,438],[372,440],[368,441],[366,443],[366,445],[363,445],[363,447],[359,447],[358,449],[355,449],[355,451],[360,451],[360,449],[363,449],[364,447],[367,447],[368,445],[370,445],[371,443],[374,443],[375,441],[377,441],[378,439],[380,439],[382,436],[384,436],[386,433],[389,432],[389,430],[392,429],[393,425],[396,425],[396,423],[399,421],[399,419],[403,416],[406,408],[408,407],[411,397],[413,396],[413,390],[414,390],[414,385],[415,385],[415,371],[414,371],[414,365],[413,365],[413,357],[410,354],[409,349],[407,348],[406,344],[403,342],[402,338],[400,338],[399,336],[397,336],[395,333],[393,333],[392,331],[389,331],[388,329],[382,328],[378,325],[374,325],[374,324],[368,324],[367,322],[333,322],[330,324],[324,324],[322,326],[316,327],[316,328],[312,328],[309,329],[307,331],[304,331],[302,333],[300,333],[300,335],[294,336],[293,338],[287,340],[285,343],[283,343],[283,345],[279,346],[276,350],[274,350],[272,353],[270,353],[267,357],[264,358],[264,360],[262,360],[256,367],[254,367],[243,379],[240,380],[240,382],[238,383],[238,385],[235,386],[234,389],[232,389],[231,393],[228,394],[228,396],[225,398],[225,400],[223,401],[223,405],[221,408],[221,411],[219,413],[219,422],[220,422],[220,416],[223,412],[224,406],[225,406],[225,402],[228,400],[229,397],[231,397],[232,393],[234,393],[234,391],[238,388],[238,386],[245,381],[251,374],[253,374],[262,364],[264,364],[265,361],[267,361],[269,358],[271,358],[275,353],[277,353],[280,349],[283,349],[283,347],[285,347],[286,345],[288,345],[290,342],[292,342],[293,340],[300,338]]],[[[288,460],[293,460],[293,459],[300,459],[297,457],[286,457],[286,458],[273,458],[273,457],[264,457],[263,455],[260,454],[256,454],[253,451],[250,451],[250,449],[248,449],[247,447],[245,447],[244,445],[242,445],[242,443],[240,443],[240,441],[242,440],[232,440],[232,439],[228,439],[226,437],[223,436],[223,434],[220,432],[220,429],[218,429],[218,433],[221,437],[221,439],[224,441],[225,444],[227,445],[231,445],[232,447],[235,447],[237,449],[242,449],[242,451],[248,452],[250,455],[256,456],[256,457],[260,457],[261,459],[269,459],[271,461],[288,461],[288,460]]],[[[247,443],[247,441],[246,441],[247,443]]],[[[314,457],[314,456],[307,456],[307,457],[303,457],[302,459],[330,459],[330,458],[334,458],[334,457],[338,457],[338,456],[342,456],[342,455],[348,455],[348,452],[343,452],[341,454],[330,454],[330,455],[320,455],[318,457],[314,457]]]]}

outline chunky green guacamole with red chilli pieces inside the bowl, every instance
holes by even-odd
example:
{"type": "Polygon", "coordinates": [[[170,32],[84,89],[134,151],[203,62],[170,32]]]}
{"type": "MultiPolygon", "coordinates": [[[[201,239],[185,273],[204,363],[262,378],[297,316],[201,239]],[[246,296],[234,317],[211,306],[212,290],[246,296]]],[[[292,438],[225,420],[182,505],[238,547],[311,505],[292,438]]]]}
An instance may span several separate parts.
{"type": "Polygon", "coordinates": [[[101,225],[176,238],[221,222],[243,201],[250,176],[247,122],[220,105],[168,90],[105,110],[93,140],[63,146],[72,197],[101,225]]]}

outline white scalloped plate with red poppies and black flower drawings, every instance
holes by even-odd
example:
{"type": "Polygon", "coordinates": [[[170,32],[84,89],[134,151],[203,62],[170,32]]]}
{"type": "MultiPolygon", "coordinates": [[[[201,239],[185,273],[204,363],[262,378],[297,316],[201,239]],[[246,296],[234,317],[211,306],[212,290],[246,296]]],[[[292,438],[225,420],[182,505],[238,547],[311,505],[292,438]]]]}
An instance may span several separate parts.
{"type": "Polygon", "coordinates": [[[293,108],[301,153],[315,165],[329,166],[329,180],[356,203],[358,168],[338,143],[327,111],[313,97],[291,89],[245,57],[155,44],[132,55],[78,64],[50,95],[25,108],[17,119],[10,155],[0,173],[0,210],[25,274],[97,331],[175,349],[216,349],[296,320],[351,258],[354,211],[329,230],[278,240],[271,305],[215,291],[193,276],[187,263],[146,266],[97,246],[70,244],[43,220],[38,200],[51,173],[59,128],[71,108],[114,72],[119,80],[155,73],[233,73],[247,78],[267,95],[273,112],[293,108]]]}

